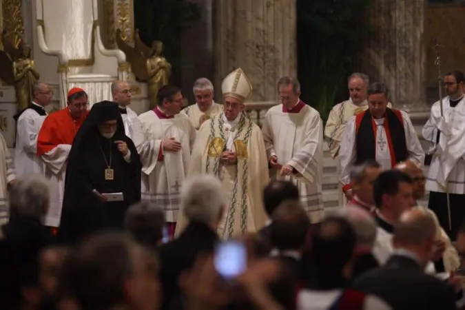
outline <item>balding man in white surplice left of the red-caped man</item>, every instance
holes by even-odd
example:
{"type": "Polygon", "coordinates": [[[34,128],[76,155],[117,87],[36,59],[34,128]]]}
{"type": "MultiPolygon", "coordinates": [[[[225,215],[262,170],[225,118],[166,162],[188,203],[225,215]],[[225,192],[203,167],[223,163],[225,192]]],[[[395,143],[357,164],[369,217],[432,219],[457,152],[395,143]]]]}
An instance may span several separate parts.
{"type": "Polygon", "coordinates": [[[37,137],[45,121],[45,106],[50,104],[52,92],[46,83],[34,85],[34,101],[14,116],[17,125],[14,163],[18,176],[43,174],[43,161],[37,156],[37,137]]]}

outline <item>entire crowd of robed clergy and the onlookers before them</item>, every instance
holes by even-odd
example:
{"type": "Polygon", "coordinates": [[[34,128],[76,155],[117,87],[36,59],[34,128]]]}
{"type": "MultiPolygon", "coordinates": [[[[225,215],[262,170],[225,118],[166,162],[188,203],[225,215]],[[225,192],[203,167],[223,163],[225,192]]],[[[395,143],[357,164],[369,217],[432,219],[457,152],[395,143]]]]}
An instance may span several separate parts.
{"type": "MultiPolygon", "coordinates": [[[[207,79],[183,109],[178,87],[137,115],[132,90],[88,109],[52,92],[15,116],[14,160],[0,139],[0,302],[5,309],[457,309],[465,254],[461,202],[464,74],[444,76],[425,154],[382,83],[348,79],[325,127],[277,83],[262,127],[252,85],[207,79]],[[338,161],[340,207],[324,210],[323,143],[338,161]],[[426,186],[426,188],[425,188],[426,186]],[[430,192],[428,208],[418,206],[430,192]],[[453,241],[457,242],[453,243],[453,241]]],[[[465,166],[464,166],[465,167],[465,166]]]]}

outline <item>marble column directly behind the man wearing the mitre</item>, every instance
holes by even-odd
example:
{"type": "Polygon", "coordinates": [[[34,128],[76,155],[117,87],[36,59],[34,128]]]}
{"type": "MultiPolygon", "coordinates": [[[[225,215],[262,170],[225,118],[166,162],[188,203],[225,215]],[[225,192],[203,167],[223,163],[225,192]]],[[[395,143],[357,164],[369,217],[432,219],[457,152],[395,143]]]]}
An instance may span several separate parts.
{"type": "Polygon", "coordinates": [[[240,67],[254,87],[247,101],[276,102],[280,76],[297,75],[296,0],[216,0],[214,6],[215,86],[240,67]]]}

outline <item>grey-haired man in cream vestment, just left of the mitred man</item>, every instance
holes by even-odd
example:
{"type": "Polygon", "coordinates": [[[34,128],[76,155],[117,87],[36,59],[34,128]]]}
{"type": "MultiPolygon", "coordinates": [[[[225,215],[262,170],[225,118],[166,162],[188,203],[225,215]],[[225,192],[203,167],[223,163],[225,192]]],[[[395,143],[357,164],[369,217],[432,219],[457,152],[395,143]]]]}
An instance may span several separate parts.
{"type": "Polygon", "coordinates": [[[198,130],[207,119],[223,112],[223,105],[219,105],[213,100],[214,87],[209,79],[200,78],[195,81],[194,96],[196,96],[196,104],[189,105],[181,113],[189,116],[192,125],[198,130]]]}

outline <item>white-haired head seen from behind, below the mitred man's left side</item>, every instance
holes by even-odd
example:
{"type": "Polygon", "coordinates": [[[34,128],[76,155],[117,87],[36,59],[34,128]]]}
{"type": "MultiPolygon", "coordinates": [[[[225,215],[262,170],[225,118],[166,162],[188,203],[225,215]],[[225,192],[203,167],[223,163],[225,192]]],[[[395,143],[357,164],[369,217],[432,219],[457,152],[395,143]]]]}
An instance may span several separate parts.
{"type": "Polygon", "coordinates": [[[225,207],[221,182],[209,174],[188,178],[181,190],[180,207],[189,220],[209,224],[225,207]]]}

